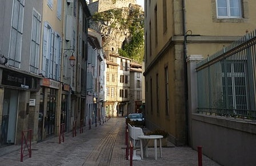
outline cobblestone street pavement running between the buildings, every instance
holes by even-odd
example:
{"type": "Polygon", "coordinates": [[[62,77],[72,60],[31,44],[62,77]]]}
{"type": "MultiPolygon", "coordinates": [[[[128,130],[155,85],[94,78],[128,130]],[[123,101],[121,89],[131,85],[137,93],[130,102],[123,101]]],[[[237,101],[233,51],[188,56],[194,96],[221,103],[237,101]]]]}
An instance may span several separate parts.
{"type": "MultiPolygon", "coordinates": [[[[58,137],[32,144],[32,156],[20,161],[20,146],[0,148],[0,165],[129,165],[125,159],[125,119],[111,118],[82,134],[65,134],[65,142],[59,144],[58,137]]],[[[140,151],[136,152],[140,155],[140,151]]],[[[158,153],[159,156],[159,153],[158,153]]],[[[134,160],[133,165],[198,165],[197,151],[190,147],[163,147],[162,158],[154,160],[154,148],[149,148],[149,157],[134,160]]],[[[203,165],[219,164],[203,156],[203,165]]]]}

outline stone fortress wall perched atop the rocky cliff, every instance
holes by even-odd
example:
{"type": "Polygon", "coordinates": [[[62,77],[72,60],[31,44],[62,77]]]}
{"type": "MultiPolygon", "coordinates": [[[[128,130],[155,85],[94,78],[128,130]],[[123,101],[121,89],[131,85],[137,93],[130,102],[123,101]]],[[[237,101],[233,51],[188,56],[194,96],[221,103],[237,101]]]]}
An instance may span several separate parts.
{"type": "Polygon", "coordinates": [[[136,0],[90,0],[88,7],[91,14],[115,8],[129,7],[129,4],[136,4],[136,0]]]}

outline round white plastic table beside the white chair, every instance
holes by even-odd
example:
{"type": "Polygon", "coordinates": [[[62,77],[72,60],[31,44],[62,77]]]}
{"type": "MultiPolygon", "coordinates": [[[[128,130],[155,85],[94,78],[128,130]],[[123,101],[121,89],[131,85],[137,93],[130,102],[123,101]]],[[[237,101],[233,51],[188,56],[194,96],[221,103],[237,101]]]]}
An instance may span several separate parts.
{"type": "MultiPolygon", "coordinates": [[[[155,160],[157,160],[157,140],[159,139],[160,157],[162,157],[162,142],[161,142],[162,138],[163,138],[162,135],[142,135],[142,136],[138,136],[139,142],[141,144],[141,159],[143,159],[143,145],[142,145],[142,140],[143,139],[154,139],[155,160]]],[[[149,142],[149,140],[147,141],[147,143],[148,142],[149,142]]],[[[146,150],[147,150],[147,143],[146,143],[146,150]]],[[[147,154],[146,154],[146,156],[147,156],[147,154]]]]}

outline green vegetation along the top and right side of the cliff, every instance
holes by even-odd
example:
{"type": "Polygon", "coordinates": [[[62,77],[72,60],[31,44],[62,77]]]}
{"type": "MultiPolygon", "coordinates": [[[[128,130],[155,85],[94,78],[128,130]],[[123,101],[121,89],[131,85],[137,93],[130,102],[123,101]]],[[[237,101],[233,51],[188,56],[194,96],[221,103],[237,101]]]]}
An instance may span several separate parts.
{"type": "Polygon", "coordinates": [[[118,50],[120,56],[141,63],[144,56],[144,15],[138,7],[111,9],[92,16],[94,22],[111,22],[111,28],[129,30],[131,36],[118,50]],[[127,13],[126,15],[124,13],[127,13]],[[119,25],[119,27],[117,27],[119,25]]]}

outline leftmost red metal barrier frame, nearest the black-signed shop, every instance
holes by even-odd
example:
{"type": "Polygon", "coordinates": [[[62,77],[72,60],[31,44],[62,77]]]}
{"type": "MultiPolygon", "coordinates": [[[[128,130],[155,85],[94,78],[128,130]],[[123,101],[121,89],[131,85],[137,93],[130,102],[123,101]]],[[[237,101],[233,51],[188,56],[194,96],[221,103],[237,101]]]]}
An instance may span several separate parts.
{"type": "Polygon", "coordinates": [[[29,155],[29,157],[31,157],[31,155],[32,155],[31,138],[32,138],[32,129],[22,131],[22,133],[21,133],[21,162],[23,162],[24,156],[29,155]],[[25,144],[24,147],[23,147],[23,144],[25,144]],[[24,152],[26,149],[29,153],[27,155],[24,155],[24,152]]]}

